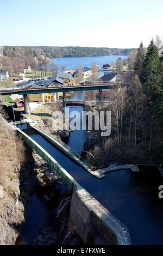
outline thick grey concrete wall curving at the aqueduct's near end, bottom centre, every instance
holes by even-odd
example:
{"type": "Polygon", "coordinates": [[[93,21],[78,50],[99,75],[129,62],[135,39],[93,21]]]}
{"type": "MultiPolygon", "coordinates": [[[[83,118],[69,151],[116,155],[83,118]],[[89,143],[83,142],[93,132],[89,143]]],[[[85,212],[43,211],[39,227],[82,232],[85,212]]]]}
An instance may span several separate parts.
{"type": "Polygon", "coordinates": [[[73,190],[71,217],[85,245],[130,245],[127,227],[79,184],[73,190]]]}

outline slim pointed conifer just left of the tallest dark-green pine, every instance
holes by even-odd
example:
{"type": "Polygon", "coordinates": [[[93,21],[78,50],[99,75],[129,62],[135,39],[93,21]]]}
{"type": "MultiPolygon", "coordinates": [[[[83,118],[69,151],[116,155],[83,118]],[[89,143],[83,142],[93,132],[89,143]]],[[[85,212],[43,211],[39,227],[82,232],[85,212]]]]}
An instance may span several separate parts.
{"type": "Polygon", "coordinates": [[[137,53],[136,53],[136,58],[134,63],[134,71],[135,71],[135,74],[139,76],[139,78],[141,78],[142,76],[142,64],[144,60],[145,60],[145,50],[143,47],[143,43],[141,41],[139,48],[137,48],[137,53]]]}

